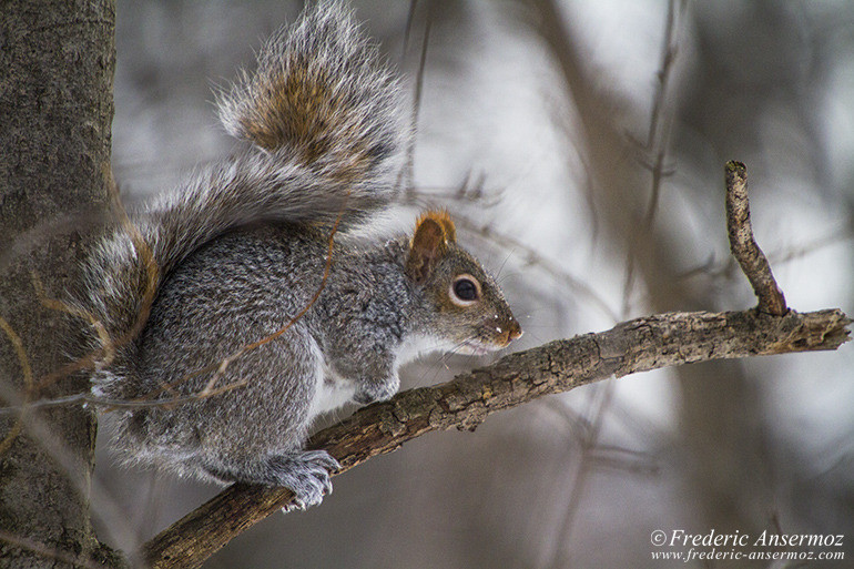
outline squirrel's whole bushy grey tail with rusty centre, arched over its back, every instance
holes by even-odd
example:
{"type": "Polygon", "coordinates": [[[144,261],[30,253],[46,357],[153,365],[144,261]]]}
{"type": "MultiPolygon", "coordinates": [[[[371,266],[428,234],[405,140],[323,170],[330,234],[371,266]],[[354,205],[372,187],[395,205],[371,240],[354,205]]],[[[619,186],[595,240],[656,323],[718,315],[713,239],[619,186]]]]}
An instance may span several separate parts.
{"type": "Polygon", "coordinates": [[[348,9],[307,8],[220,95],[223,124],[250,148],[133,215],[146,246],[126,226],[104,240],[85,267],[85,308],[115,341],[139,327],[152,286],[218,235],[260,221],[340,217],[340,228],[388,204],[409,135],[399,91],[348,9]]]}

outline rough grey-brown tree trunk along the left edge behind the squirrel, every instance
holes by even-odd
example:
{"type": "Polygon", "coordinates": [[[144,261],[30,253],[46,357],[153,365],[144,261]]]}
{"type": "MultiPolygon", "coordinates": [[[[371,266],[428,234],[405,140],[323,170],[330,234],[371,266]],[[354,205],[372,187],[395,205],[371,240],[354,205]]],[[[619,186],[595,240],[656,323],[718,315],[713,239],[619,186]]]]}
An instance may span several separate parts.
{"type": "MultiPolygon", "coordinates": [[[[61,296],[103,209],[115,64],[112,1],[4,1],[0,8],[0,399],[3,405],[85,386],[24,385],[65,357],[61,296]],[[57,223],[63,220],[64,223],[57,223]],[[72,223],[69,223],[71,220],[72,223]],[[61,225],[61,227],[59,227],[61,225]],[[57,231],[59,227],[62,231],[57,231]],[[32,374],[27,374],[27,367],[32,374]]],[[[3,567],[103,560],[89,522],[95,421],[80,407],[0,418],[0,559],[3,567]],[[23,425],[20,434],[19,426],[23,425]]]]}

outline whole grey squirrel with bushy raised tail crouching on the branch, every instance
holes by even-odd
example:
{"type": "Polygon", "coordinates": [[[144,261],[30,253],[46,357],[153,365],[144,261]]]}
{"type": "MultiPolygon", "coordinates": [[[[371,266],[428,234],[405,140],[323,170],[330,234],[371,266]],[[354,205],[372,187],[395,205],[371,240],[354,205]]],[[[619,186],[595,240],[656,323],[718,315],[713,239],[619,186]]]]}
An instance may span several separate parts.
{"type": "Polygon", "coordinates": [[[388,399],[425,352],[484,354],[521,328],[446,212],[413,235],[356,234],[394,200],[413,133],[348,8],[306,8],[217,103],[245,148],[132,212],[84,264],[92,390],[139,403],[114,410],[124,463],[287,487],[305,508],[339,468],[304,449],[315,417],[388,399]]]}

